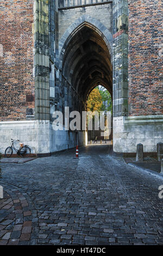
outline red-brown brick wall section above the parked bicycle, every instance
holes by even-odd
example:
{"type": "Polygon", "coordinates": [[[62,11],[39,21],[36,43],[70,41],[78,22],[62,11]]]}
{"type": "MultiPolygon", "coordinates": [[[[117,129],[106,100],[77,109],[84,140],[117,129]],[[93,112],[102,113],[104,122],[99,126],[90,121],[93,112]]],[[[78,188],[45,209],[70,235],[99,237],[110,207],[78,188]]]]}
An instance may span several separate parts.
{"type": "Polygon", "coordinates": [[[0,120],[34,112],[33,0],[0,2],[0,120]]]}

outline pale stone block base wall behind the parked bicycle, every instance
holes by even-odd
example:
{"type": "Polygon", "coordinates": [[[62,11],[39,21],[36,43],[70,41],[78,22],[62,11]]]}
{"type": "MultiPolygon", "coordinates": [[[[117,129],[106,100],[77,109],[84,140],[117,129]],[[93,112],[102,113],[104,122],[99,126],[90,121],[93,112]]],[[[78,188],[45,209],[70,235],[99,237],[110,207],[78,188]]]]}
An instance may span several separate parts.
{"type": "MultiPolygon", "coordinates": [[[[49,120],[17,120],[0,122],[0,150],[11,145],[11,138],[20,140],[21,143],[29,145],[32,154],[43,156],[55,151],[61,151],[76,147],[76,132],[58,130],[54,131],[52,122],[49,120]]],[[[85,143],[85,133],[79,131],[79,145],[85,143]]],[[[18,149],[19,143],[14,145],[18,149]]],[[[16,151],[13,151],[16,154],[16,151]]]]}

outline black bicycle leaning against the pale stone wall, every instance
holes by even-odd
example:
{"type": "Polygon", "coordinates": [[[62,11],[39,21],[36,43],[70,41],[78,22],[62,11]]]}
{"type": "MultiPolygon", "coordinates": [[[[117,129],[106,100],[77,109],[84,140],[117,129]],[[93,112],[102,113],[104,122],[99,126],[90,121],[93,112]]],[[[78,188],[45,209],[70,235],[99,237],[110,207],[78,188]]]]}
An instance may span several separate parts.
{"type": "Polygon", "coordinates": [[[21,157],[24,157],[24,155],[26,155],[27,157],[30,156],[30,148],[28,147],[28,145],[24,145],[23,143],[20,143],[20,148],[16,149],[14,146],[14,141],[19,141],[19,139],[11,139],[11,147],[8,147],[7,149],[5,149],[5,157],[10,157],[13,154],[13,149],[16,151],[17,155],[20,155],[21,157]]]}

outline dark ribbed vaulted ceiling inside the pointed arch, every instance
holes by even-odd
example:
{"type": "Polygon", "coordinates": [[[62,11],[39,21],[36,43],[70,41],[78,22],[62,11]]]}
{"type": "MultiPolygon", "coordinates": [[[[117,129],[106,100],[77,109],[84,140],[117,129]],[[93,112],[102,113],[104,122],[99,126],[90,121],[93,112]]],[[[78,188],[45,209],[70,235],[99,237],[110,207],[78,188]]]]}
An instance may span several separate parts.
{"type": "Polygon", "coordinates": [[[101,84],[112,95],[112,66],[104,39],[89,26],[83,26],[68,41],[62,73],[85,101],[101,84]]]}

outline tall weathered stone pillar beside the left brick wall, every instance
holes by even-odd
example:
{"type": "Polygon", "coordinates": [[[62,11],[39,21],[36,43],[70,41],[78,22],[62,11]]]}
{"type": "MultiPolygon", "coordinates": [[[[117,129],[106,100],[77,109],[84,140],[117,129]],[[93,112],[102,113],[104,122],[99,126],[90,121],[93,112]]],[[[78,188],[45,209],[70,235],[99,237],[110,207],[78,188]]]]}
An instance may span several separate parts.
{"type": "Polygon", "coordinates": [[[49,120],[49,6],[34,1],[35,119],[49,120]]]}

